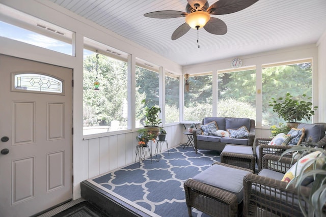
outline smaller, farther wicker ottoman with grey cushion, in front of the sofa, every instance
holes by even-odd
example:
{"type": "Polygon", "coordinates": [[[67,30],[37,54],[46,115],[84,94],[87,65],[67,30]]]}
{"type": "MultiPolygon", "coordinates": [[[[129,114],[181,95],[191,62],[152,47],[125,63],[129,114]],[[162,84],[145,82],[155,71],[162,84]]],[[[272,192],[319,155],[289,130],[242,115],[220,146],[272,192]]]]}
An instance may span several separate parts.
{"type": "Polygon", "coordinates": [[[221,152],[221,163],[248,168],[255,171],[253,147],[227,144],[221,152]]]}

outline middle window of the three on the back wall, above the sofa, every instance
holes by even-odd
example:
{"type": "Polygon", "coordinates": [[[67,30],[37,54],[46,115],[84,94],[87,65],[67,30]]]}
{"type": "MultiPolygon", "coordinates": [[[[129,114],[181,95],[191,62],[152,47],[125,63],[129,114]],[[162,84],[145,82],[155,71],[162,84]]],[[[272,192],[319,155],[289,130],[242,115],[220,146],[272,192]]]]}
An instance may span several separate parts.
{"type": "Polygon", "coordinates": [[[256,119],[256,70],[218,73],[218,117],[256,119]]]}

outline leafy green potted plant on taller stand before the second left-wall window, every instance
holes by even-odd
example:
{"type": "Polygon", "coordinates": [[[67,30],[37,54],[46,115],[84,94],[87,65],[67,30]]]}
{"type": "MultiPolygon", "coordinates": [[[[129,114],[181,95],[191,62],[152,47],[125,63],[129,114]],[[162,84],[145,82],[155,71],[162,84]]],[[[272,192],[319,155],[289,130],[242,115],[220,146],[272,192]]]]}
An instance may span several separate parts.
{"type": "MultiPolygon", "coordinates": [[[[145,100],[142,101],[142,103],[145,104],[145,100]]],[[[145,107],[145,126],[144,128],[156,132],[156,136],[159,132],[159,124],[162,122],[161,119],[159,119],[158,113],[161,112],[161,109],[157,106],[152,107],[145,107]]]]}

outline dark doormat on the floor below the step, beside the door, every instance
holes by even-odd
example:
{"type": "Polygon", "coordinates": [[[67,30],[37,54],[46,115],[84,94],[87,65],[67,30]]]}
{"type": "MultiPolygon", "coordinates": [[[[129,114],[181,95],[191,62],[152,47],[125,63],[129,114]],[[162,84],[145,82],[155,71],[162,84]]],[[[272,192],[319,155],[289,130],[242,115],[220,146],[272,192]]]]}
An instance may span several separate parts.
{"type": "Polygon", "coordinates": [[[53,217],[105,217],[109,216],[87,201],[77,203],[76,205],[59,212],[53,217]]]}

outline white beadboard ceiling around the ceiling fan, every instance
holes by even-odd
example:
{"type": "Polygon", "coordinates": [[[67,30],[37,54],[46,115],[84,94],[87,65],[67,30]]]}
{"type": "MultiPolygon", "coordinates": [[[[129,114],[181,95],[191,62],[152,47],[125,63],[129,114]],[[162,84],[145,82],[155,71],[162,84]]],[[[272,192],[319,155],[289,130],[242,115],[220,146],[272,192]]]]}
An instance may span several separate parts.
{"type": "MultiPolygon", "coordinates": [[[[145,13],[185,11],[186,0],[49,0],[181,66],[316,43],[326,30],[326,0],[259,0],[242,11],[211,15],[228,27],[225,35],[191,29],[172,41],[184,18],[154,19],[145,13]]],[[[216,2],[208,0],[209,5],[216,2]]]]}

